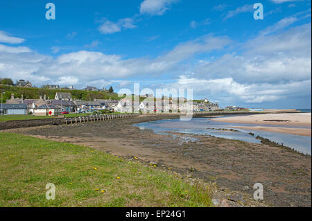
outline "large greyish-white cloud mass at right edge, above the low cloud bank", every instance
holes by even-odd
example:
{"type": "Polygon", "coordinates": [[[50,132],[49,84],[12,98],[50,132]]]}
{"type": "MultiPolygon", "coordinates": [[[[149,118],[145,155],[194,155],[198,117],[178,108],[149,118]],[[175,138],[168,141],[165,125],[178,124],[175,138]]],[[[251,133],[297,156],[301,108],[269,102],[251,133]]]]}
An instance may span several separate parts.
{"type": "Polygon", "coordinates": [[[244,53],[226,53],[199,62],[194,78],[232,78],[241,84],[280,84],[311,80],[311,24],[275,35],[260,36],[241,45],[244,53]]]}

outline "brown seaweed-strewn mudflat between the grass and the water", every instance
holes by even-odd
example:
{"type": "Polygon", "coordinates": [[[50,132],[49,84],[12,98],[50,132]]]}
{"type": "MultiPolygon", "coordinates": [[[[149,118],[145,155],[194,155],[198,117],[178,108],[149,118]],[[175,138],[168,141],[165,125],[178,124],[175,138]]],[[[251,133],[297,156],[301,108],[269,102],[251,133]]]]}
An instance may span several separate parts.
{"type": "MultiPolygon", "coordinates": [[[[229,202],[257,206],[256,183],[263,184],[267,206],[311,206],[311,156],[264,144],[194,134],[155,134],[134,123],[164,116],[139,116],[61,126],[19,128],[7,132],[89,145],[121,157],[154,161],[159,169],[216,182],[229,202]],[[236,195],[233,195],[235,193],[236,195]]],[[[170,117],[173,118],[173,117],[170,117]]]]}

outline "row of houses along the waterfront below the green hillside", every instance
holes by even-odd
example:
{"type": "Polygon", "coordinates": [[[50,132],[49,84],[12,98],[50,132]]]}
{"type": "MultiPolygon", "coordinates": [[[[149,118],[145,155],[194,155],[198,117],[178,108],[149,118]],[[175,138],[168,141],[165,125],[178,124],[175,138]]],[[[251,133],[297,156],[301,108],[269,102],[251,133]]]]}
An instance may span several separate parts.
{"type": "Polygon", "coordinates": [[[214,111],[219,109],[218,103],[210,103],[209,100],[187,101],[175,99],[157,100],[153,97],[144,99],[141,103],[134,103],[131,98],[121,100],[73,100],[70,93],[57,92],[54,99],[40,96],[39,99],[11,98],[6,100],[4,114],[34,114],[38,116],[59,115],[62,112],[94,112],[98,110],[110,110],[112,112],[183,112],[214,111]],[[19,107],[21,110],[17,110],[19,107]],[[26,110],[25,110],[26,109],[26,110]]]}

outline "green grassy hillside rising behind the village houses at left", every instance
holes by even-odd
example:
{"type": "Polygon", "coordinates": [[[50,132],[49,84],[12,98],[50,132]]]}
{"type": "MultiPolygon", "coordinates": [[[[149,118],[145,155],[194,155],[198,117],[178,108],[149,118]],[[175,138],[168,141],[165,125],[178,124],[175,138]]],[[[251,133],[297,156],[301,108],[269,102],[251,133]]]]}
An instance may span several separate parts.
{"type": "Polygon", "coordinates": [[[24,87],[12,87],[7,85],[0,85],[0,91],[6,92],[3,94],[3,103],[6,103],[7,99],[10,99],[11,94],[14,93],[15,98],[21,98],[23,94],[24,99],[39,99],[40,96],[46,95],[46,97],[53,99],[56,92],[68,92],[73,99],[76,100],[93,100],[96,99],[109,99],[119,100],[116,93],[109,93],[104,91],[83,91],[83,90],[62,90],[62,89],[42,89],[42,88],[24,88],[24,87]]]}

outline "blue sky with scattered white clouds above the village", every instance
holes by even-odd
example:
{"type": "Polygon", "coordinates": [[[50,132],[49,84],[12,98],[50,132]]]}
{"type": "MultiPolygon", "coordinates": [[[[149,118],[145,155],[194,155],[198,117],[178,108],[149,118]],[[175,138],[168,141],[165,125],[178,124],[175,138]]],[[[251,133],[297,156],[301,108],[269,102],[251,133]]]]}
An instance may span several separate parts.
{"type": "Polygon", "coordinates": [[[310,0],[1,1],[0,21],[0,78],[311,108],[310,0]]]}

